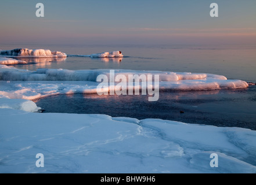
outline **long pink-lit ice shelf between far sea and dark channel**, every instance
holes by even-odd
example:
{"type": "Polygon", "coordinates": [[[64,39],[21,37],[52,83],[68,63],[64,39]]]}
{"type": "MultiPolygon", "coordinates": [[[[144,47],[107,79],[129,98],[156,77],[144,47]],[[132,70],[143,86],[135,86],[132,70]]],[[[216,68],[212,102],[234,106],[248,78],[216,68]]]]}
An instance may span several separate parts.
{"type": "MultiPolygon", "coordinates": [[[[247,88],[241,80],[228,80],[225,76],[207,73],[175,73],[160,71],[115,70],[115,76],[159,75],[160,91],[217,90],[222,88],[247,88]]],[[[109,69],[78,70],[38,69],[27,71],[0,65],[0,96],[6,98],[36,99],[54,94],[96,93],[98,75],[110,76],[109,69]],[[20,82],[22,81],[22,82],[20,82]],[[8,88],[7,88],[8,87],[8,88]]],[[[116,82],[117,84],[118,82],[116,82]]],[[[128,82],[127,82],[128,83],[128,82]]],[[[153,83],[154,85],[154,83],[153,83]]],[[[134,86],[134,89],[141,89],[134,86]]],[[[109,91],[109,88],[104,89],[109,91]]]]}

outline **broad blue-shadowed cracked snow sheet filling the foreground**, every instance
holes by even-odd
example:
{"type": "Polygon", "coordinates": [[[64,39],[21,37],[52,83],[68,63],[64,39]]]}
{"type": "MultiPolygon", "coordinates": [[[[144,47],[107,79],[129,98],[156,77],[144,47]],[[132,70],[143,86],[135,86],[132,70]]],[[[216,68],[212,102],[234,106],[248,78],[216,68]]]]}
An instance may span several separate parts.
{"type": "Polygon", "coordinates": [[[0,173],[256,173],[250,129],[13,109],[0,116],[0,173]]]}

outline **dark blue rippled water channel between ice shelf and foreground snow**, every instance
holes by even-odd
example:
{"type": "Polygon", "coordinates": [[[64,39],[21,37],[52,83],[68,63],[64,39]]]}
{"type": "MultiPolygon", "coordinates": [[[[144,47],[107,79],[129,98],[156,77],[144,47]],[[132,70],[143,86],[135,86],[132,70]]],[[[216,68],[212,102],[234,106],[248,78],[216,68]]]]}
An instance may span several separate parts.
{"type": "Polygon", "coordinates": [[[36,103],[46,113],[107,114],[256,130],[256,86],[246,90],[161,92],[157,102],[149,102],[146,95],[74,94],[36,103]]]}

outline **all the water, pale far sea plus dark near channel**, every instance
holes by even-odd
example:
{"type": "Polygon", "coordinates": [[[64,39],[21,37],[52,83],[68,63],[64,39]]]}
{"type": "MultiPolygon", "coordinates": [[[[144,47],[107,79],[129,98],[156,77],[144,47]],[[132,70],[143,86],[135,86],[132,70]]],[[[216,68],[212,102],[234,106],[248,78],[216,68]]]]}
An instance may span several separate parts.
{"type": "MultiPolygon", "coordinates": [[[[173,72],[214,73],[228,79],[256,82],[256,46],[44,46],[0,45],[0,49],[50,49],[68,55],[88,55],[120,50],[124,58],[67,57],[54,60],[24,59],[15,65],[32,71],[54,69],[134,69],[173,72]]],[[[185,123],[256,129],[256,86],[246,90],[163,92],[157,102],[146,96],[59,95],[37,101],[45,112],[100,113],[110,116],[157,118],[185,123]],[[181,113],[181,111],[183,113],[181,113]]]]}

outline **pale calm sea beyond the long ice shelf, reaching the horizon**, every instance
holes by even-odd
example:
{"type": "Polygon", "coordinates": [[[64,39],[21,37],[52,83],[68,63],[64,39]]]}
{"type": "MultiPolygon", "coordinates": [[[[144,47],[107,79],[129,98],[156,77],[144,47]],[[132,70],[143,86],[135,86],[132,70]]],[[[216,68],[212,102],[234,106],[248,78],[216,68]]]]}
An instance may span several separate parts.
{"type": "Polygon", "coordinates": [[[89,57],[67,57],[66,59],[29,60],[30,65],[15,65],[16,68],[36,70],[38,68],[62,69],[134,69],[173,72],[198,72],[224,75],[228,79],[256,82],[256,46],[44,46],[44,45],[0,45],[0,49],[50,49],[66,54],[93,54],[120,50],[125,58],[106,59],[89,57]]]}

